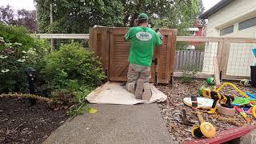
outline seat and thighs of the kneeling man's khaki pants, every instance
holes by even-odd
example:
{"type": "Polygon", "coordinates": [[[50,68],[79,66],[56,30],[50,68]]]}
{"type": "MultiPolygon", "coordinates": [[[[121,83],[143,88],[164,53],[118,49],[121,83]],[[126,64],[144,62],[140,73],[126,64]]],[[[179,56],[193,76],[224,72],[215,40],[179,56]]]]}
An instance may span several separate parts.
{"type": "Polygon", "coordinates": [[[130,63],[127,78],[128,82],[135,82],[138,80],[138,78],[142,78],[144,82],[150,82],[150,66],[142,66],[130,63]]]}

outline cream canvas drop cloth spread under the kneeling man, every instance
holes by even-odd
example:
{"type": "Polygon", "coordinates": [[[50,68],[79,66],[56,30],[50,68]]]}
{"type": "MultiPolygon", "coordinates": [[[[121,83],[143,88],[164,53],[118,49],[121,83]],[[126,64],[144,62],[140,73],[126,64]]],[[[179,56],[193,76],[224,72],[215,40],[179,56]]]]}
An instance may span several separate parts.
{"type": "Polygon", "coordinates": [[[128,90],[122,86],[122,83],[106,82],[106,84],[98,87],[87,95],[86,100],[90,103],[102,103],[102,104],[120,104],[120,105],[134,105],[138,103],[152,103],[152,102],[164,102],[166,101],[166,94],[163,94],[153,84],[150,84],[152,91],[152,97],[150,101],[142,101],[135,99],[134,94],[131,94],[128,90]]]}

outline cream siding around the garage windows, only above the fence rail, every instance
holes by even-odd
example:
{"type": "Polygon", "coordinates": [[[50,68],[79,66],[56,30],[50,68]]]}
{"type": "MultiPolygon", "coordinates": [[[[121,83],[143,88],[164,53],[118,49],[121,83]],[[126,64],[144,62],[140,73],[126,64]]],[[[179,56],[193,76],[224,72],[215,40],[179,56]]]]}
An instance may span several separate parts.
{"type": "Polygon", "coordinates": [[[218,37],[219,30],[230,25],[234,25],[235,37],[253,36],[256,38],[256,27],[254,30],[247,30],[244,32],[238,31],[238,22],[242,22],[249,18],[256,17],[256,0],[235,0],[228,6],[218,10],[215,14],[212,14],[208,19],[207,37],[218,37]],[[248,34],[248,32],[250,34],[248,34]],[[245,34],[245,35],[244,35],[245,34]]]}

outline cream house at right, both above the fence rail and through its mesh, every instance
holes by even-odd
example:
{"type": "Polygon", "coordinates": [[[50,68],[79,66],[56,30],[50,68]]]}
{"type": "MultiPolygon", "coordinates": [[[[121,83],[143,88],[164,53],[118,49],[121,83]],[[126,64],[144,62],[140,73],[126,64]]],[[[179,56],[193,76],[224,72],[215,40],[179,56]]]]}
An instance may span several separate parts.
{"type": "MultiPolygon", "coordinates": [[[[256,0],[222,0],[200,16],[208,19],[206,37],[256,38],[256,0]]],[[[213,74],[213,58],[218,43],[206,43],[202,72],[213,74]]],[[[234,76],[250,76],[250,66],[256,59],[251,50],[256,43],[230,43],[226,73],[234,76]]]]}

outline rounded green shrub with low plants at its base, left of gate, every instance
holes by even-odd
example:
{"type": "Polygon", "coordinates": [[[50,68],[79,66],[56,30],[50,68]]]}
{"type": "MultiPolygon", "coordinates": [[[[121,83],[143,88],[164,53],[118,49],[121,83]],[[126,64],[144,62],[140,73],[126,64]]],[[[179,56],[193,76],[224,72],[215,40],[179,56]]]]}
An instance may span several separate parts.
{"type": "Polygon", "coordinates": [[[86,95],[101,84],[105,78],[102,64],[90,50],[79,43],[62,45],[45,58],[43,70],[54,89],[54,106],[69,107],[68,115],[75,117],[83,114],[86,107],[86,95]],[[65,90],[58,90],[65,89],[65,90]],[[63,105],[64,104],[64,105],[63,105]]]}

